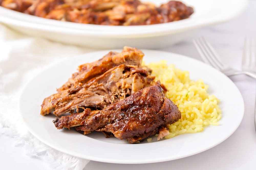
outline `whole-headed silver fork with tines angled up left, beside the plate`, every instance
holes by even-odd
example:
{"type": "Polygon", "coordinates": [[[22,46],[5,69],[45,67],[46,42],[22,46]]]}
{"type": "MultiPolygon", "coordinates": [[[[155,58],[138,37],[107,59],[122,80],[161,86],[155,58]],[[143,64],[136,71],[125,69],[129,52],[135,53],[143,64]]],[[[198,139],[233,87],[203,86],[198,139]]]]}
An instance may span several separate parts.
{"type": "Polygon", "coordinates": [[[246,74],[256,79],[256,73],[252,73],[249,71],[239,71],[223,63],[218,53],[210,45],[210,43],[205,40],[204,37],[193,40],[193,43],[199,55],[201,56],[202,60],[204,60],[204,62],[210,64],[212,67],[216,68],[217,70],[221,71],[225,75],[233,76],[238,74],[246,74]]]}

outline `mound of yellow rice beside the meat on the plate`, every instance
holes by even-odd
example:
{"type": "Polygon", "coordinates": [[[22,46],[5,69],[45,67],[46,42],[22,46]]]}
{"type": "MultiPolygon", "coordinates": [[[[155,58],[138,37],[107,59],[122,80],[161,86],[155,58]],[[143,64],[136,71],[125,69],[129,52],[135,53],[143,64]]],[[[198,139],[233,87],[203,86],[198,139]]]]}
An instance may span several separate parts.
{"type": "Polygon", "coordinates": [[[201,132],[207,125],[219,125],[219,99],[207,93],[208,86],[203,80],[190,80],[188,71],[175,68],[172,64],[167,65],[163,60],[148,66],[153,70],[155,80],[160,80],[166,86],[166,97],[178,106],[182,115],[182,119],[169,125],[170,134],[165,138],[201,132]]]}

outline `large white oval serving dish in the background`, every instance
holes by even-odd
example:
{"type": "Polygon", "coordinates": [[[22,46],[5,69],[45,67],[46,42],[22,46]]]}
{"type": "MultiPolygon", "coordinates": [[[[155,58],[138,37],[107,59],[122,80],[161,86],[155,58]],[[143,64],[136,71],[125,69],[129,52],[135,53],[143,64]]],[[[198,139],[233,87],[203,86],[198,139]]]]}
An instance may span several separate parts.
{"type": "MultiPolygon", "coordinates": [[[[144,0],[156,5],[167,0],[144,0]]],[[[16,12],[0,7],[0,22],[28,35],[48,38],[67,44],[94,48],[165,47],[186,38],[191,31],[228,21],[238,16],[247,0],[183,0],[194,8],[188,19],[154,25],[109,26],[62,22],[16,12]]]]}

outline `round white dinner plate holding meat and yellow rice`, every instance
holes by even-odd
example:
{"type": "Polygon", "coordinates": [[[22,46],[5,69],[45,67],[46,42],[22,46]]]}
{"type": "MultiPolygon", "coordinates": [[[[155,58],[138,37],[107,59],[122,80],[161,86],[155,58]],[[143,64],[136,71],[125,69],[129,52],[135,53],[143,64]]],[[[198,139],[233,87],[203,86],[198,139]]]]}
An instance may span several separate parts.
{"type": "MultiPolygon", "coordinates": [[[[109,51],[109,50],[108,50],[109,51]]],[[[84,159],[108,163],[153,163],[169,161],[210,149],[227,139],[239,126],[244,113],[243,98],[233,82],[221,72],[195,59],[163,51],[143,50],[146,62],[167,60],[188,70],[192,80],[203,79],[209,93],[220,99],[222,118],[219,126],[207,126],[203,132],[182,134],[161,141],[129,144],[117,138],[105,138],[101,132],[82,135],[76,130],[57,130],[53,115],[41,116],[43,99],[65,83],[78,65],[107,54],[97,51],[55,64],[34,77],[20,97],[20,112],[29,131],[46,145],[84,159]],[[235,106],[235,107],[234,107],[235,106]]]]}

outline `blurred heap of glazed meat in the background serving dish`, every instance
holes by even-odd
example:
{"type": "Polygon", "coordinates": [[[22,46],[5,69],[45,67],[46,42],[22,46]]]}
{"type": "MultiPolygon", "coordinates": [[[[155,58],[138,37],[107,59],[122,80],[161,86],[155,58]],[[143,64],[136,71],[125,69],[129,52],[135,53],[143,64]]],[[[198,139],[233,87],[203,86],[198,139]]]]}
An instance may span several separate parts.
{"type": "Polygon", "coordinates": [[[178,1],[159,7],[138,0],[0,0],[0,5],[38,17],[100,25],[159,24],[194,12],[178,1]]]}

